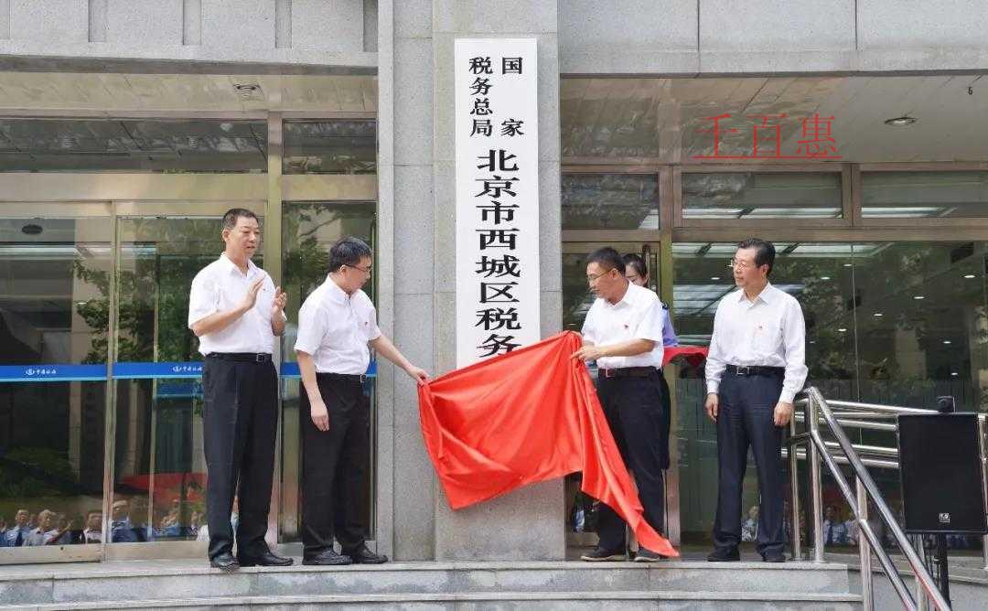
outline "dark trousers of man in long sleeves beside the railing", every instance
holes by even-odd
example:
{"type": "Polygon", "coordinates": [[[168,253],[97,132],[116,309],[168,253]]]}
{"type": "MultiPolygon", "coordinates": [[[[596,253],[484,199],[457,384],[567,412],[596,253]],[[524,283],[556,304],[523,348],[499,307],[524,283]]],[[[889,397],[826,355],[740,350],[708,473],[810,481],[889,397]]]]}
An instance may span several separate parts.
{"type": "Polygon", "coordinates": [[[759,554],[782,554],[782,427],[773,421],[782,393],[784,372],[737,375],[725,371],[718,391],[717,515],[713,544],[733,551],[741,542],[741,488],[748,466],[748,448],[755,455],[758,491],[756,549],[759,554]]]}

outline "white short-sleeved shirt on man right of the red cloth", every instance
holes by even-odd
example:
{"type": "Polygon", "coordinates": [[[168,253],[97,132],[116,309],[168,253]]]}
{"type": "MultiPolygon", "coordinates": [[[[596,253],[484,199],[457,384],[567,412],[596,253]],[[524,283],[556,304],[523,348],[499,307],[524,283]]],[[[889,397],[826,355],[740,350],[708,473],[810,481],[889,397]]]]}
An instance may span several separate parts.
{"type": "Polygon", "coordinates": [[[651,290],[628,282],[620,301],[612,304],[598,297],[583,321],[583,339],[594,345],[609,345],[631,340],[651,340],[651,352],[634,356],[605,356],[597,360],[601,369],[622,367],[661,367],[664,310],[659,296],[651,290]]]}

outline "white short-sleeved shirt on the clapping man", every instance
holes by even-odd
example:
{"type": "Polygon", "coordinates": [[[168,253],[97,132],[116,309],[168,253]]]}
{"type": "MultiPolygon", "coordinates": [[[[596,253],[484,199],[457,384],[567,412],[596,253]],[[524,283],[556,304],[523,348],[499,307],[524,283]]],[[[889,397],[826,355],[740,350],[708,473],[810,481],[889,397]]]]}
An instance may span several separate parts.
{"type": "MultiPolygon", "coordinates": [[[[189,328],[216,312],[236,308],[247,296],[258,278],[264,284],[257,294],[257,301],[249,312],[230,323],[225,329],[206,334],[199,339],[199,351],[258,352],[270,354],[275,349],[275,334],[271,330],[271,308],[275,303],[275,282],[264,269],[247,262],[247,275],[226,258],[203,267],[192,281],[189,292],[189,328]]],[[[284,316],[284,313],[283,313],[284,316]]]]}

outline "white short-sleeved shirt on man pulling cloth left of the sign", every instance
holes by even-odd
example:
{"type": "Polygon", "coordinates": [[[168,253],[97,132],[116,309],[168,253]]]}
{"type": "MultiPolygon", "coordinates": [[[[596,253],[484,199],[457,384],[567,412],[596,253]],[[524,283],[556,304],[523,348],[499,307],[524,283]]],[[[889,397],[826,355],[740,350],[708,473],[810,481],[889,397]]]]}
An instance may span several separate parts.
{"type": "Polygon", "coordinates": [[[377,311],[363,290],[348,295],[327,277],[298,311],[295,349],[312,355],[320,373],[360,374],[368,370],[368,342],[380,337],[377,311]]]}

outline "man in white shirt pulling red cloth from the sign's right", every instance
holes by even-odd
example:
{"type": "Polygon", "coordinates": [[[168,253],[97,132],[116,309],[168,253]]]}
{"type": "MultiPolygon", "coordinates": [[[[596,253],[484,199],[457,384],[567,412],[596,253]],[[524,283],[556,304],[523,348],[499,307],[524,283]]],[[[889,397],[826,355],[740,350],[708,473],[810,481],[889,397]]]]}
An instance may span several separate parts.
{"type": "MultiPolygon", "coordinates": [[[[662,402],[662,330],[664,312],[658,295],[624,276],[624,261],[613,248],[587,258],[587,281],[597,299],[583,323],[583,347],[573,356],[597,361],[597,396],[611,425],[617,449],[634,475],[645,520],[665,530],[662,459],[668,452],[669,421],[662,402]]],[[[600,543],[581,556],[590,562],[626,558],[626,524],[601,503],[600,543]]],[[[662,556],[644,548],[635,562],[662,556]]]]}

